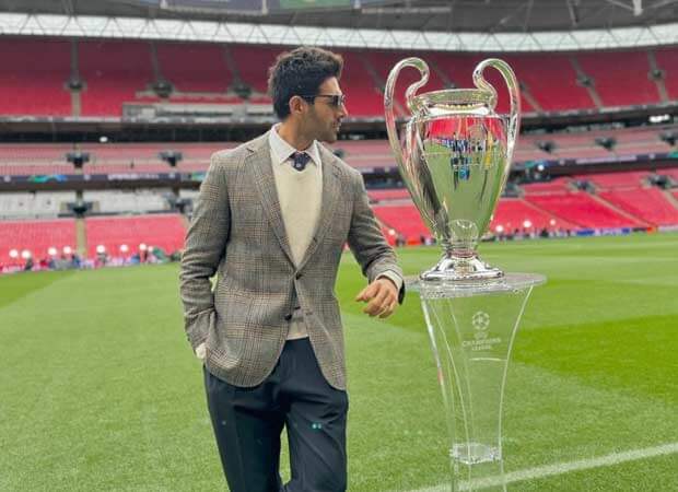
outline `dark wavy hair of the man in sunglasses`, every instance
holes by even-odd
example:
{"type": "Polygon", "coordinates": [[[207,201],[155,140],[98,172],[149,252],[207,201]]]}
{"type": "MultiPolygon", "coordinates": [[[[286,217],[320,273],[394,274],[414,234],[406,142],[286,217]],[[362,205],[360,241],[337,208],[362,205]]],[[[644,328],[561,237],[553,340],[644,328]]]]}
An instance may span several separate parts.
{"type": "Polygon", "coordinates": [[[295,95],[315,95],[330,77],[339,79],[343,69],[341,55],[322,48],[302,46],[278,56],[268,69],[268,92],[276,115],[290,116],[290,99],[295,95]]]}

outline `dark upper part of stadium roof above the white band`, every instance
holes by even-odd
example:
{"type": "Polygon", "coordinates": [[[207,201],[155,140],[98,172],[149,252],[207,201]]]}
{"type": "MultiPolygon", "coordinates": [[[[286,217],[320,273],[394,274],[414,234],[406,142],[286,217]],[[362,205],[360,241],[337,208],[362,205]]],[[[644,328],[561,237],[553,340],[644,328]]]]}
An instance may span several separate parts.
{"type": "Polygon", "coordinates": [[[493,33],[678,22],[678,0],[0,0],[0,11],[493,33]]]}

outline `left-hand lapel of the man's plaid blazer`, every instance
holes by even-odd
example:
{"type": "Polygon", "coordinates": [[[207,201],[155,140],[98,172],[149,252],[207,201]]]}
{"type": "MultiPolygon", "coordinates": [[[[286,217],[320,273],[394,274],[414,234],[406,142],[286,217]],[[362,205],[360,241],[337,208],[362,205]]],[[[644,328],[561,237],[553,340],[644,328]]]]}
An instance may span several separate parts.
{"type": "Polygon", "coordinates": [[[280,211],[280,201],[278,199],[278,189],[276,188],[276,178],[273,177],[273,168],[271,167],[271,152],[268,144],[268,132],[259,139],[255,139],[248,150],[252,152],[246,157],[246,168],[252,169],[259,199],[264,206],[266,215],[273,233],[280,242],[280,246],[290,262],[292,259],[292,249],[288,242],[288,235],[282,221],[282,212],[280,211]]]}

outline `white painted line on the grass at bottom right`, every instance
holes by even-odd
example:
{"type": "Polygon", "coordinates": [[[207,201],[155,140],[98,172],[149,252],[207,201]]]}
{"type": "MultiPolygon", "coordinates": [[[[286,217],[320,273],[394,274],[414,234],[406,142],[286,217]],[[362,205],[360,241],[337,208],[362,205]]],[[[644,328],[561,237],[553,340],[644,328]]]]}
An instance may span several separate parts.
{"type": "MultiPolygon", "coordinates": [[[[554,475],[569,473],[571,471],[588,470],[591,468],[609,467],[627,461],[635,461],[639,459],[653,458],[655,456],[671,455],[678,453],[678,442],[667,443],[661,446],[645,447],[642,449],[631,449],[621,453],[612,453],[597,458],[577,459],[576,461],[557,462],[554,465],[545,465],[541,467],[526,468],[524,470],[512,471],[506,473],[506,483],[522,482],[524,480],[539,479],[551,477],[554,475]]],[[[488,477],[477,482],[476,487],[486,488],[501,484],[501,477],[488,477]]],[[[459,490],[469,490],[468,482],[460,482],[459,490]]],[[[417,489],[411,492],[448,492],[448,484],[440,484],[426,489],[417,489]]]]}

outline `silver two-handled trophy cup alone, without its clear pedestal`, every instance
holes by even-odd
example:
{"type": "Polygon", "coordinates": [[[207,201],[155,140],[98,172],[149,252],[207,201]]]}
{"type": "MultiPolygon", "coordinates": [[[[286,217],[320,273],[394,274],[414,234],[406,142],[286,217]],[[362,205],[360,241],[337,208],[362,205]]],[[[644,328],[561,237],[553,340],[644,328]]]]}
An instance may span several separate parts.
{"type": "Polygon", "coordinates": [[[478,258],[484,234],[511,167],[518,136],[521,93],[511,67],[484,60],[474,71],[476,89],[417,94],[429,80],[420,58],[406,58],[388,75],[384,94],[386,129],[400,175],[419,213],[445,254],[421,274],[426,281],[496,279],[503,272],[478,258]],[[412,116],[398,139],[394,90],[400,70],[413,67],[421,80],[406,91],[412,116]],[[498,115],[496,91],[482,77],[486,68],[501,72],[511,96],[511,114],[498,115]]]}

